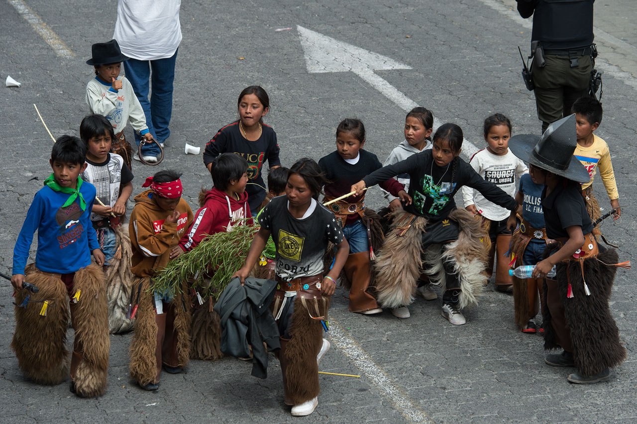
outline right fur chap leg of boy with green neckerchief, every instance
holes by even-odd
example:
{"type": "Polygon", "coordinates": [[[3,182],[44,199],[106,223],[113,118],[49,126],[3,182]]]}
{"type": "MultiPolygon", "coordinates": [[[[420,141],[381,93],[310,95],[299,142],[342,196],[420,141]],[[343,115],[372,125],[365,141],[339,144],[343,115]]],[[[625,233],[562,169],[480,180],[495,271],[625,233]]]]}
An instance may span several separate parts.
{"type": "Polygon", "coordinates": [[[103,395],[106,391],[108,353],[108,305],[104,272],[89,265],[75,273],[73,289],[82,290],[75,307],[75,337],[83,346],[82,362],[75,372],[75,390],[83,397],[103,395]]]}

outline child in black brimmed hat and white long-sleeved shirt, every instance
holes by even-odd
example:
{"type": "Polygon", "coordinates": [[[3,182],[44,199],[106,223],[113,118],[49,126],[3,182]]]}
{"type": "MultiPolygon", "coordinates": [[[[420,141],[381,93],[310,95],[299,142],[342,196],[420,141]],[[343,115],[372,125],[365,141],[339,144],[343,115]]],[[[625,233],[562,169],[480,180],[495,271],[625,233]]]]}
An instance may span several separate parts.
{"type": "Polygon", "coordinates": [[[122,54],[117,41],[111,39],[106,43],[95,43],[91,46],[92,57],[87,65],[95,67],[95,78],[86,85],[86,104],[92,113],[104,115],[113,125],[115,138],[111,152],[120,155],[126,166],[131,169],[131,160],[144,160],[148,164],[157,162],[159,147],[157,145],[142,146],[141,157],[132,152],[131,144],[124,137],[126,124],[145,139],[145,143],[153,143],[153,135],[148,131],[146,115],[141,108],[132,85],[125,76],[120,77],[120,66],[129,58],[122,54]]]}

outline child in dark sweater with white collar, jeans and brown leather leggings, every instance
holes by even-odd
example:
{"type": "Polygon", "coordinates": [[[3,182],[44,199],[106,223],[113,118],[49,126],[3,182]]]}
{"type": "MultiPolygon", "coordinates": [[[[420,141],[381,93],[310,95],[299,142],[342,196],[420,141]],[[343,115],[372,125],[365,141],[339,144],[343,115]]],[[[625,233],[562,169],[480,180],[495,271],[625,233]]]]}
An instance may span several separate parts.
{"type": "MultiPolygon", "coordinates": [[[[365,126],[360,120],[347,118],[338,124],[336,152],[318,161],[318,166],[329,181],[325,185],[325,201],[348,194],[353,184],[382,167],[374,153],[363,150],[365,141],[365,126]]],[[[408,198],[403,185],[394,178],[383,181],[380,186],[401,200],[408,198]]],[[[333,202],[329,209],[343,227],[343,234],[350,246],[350,255],[344,267],[345,276],[351,285],[349,310],[361,314],[377,314],[383,310],[378,307],[373,293],[368,291],[371,283],[371,261],[375,259],[371,227],[378,227],[375,229],[376,234],[382,234],[382,229],[380,222],[366,213],[369,209],[365,208],[364,199],[364,193],[352,195],[333,202]]]]}

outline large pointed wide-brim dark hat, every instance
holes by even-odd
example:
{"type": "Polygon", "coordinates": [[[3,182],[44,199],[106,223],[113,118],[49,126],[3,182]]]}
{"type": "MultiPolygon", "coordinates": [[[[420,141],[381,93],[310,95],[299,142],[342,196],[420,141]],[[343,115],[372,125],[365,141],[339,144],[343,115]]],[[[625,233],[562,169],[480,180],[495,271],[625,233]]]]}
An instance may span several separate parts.
{"type": "Polygon", "coordinates": [[[573,156],[576,146],[575,115],[548,125],[541,137],[519,134],[509,140],[511,152],[524,162],[569,180],[587,183],[589,171],[573,156]]]}

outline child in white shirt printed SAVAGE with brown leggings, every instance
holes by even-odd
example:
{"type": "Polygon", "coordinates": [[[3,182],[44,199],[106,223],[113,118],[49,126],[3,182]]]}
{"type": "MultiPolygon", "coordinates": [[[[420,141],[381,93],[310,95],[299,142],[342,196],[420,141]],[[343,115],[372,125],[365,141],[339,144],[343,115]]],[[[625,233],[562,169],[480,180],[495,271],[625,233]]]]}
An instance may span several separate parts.
{"type": "MultiPolygon", "coordinates": [[[[469,165],[482,178],[497,185],[506,194],[515,195],[515,178],[529,172],[522,160],[509,152],[508,142],[511,138],[511,121],[501,113],[491,115],[484,120],[484,141],[487,148],[478,150],[471,157],[469,165]]],[[[511,244],[511,232],[506,228],[509,211],[487,201],[482,194],[471,187],[462,187],[464,207],[473,215],[482,216],[482,224],[489,229],[491,250],[487,276],[490,278],[493,265],[496,265],[495,286],[499,292],[512,292],[513,281],[509,275],[508,254],[511,244]],[[496,260],[497,259],[497,260],[496,260]]]]}

